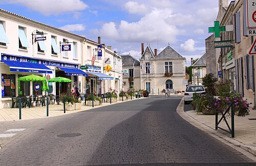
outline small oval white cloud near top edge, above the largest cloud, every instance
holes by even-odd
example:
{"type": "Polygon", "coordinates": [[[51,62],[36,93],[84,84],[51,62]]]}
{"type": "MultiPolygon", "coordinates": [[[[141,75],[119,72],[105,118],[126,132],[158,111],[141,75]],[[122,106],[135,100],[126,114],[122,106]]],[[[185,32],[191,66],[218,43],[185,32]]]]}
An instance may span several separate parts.
{"type": "Polygon", "coordinates": [[[149,10],[144,4],[139,5],[137,2],[132,1],[127,2],[124,8],[132,14],[145,14],[149,10]]]}

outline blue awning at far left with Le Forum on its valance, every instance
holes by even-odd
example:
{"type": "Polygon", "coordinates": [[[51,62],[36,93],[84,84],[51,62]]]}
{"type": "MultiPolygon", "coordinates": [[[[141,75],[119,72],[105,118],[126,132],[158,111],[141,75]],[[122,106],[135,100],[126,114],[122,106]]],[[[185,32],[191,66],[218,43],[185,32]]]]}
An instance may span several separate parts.
{"type": "Polygon", "coordinates": [[[10,66],[10,71],[28,72],[28,73],[52,73],[52,70],[45,65],[38,65],[34,63],[20,63],[16,61],[2,61],[10,66]]]}

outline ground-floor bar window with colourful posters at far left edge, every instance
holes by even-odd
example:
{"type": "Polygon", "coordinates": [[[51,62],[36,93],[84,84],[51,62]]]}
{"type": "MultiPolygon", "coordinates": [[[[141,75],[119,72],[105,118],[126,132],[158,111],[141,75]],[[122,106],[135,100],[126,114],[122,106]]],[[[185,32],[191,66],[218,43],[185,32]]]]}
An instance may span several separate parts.
{"type": "Polygon", "coordinates": [[[2,97],[15,96],[15,74],[2,74],[2,97]]]}

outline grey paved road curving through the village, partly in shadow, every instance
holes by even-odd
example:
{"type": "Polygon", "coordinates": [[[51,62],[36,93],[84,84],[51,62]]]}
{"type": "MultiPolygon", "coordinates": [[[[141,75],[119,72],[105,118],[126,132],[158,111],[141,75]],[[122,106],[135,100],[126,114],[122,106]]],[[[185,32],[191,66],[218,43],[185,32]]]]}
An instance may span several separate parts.
{"type": "Polygon", "coordinates": [[[65,116],[1,122],[0,165],[255,165],[190,125],[180,97],[154,96],[65,116]]]}

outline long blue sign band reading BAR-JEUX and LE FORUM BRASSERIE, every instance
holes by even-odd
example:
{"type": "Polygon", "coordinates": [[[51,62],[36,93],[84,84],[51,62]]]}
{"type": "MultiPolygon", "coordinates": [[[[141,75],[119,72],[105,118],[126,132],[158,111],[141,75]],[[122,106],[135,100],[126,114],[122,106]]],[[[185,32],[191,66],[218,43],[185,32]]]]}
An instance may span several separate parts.
{"type": "Polygon", "coordinates": [[[26,64],[33,63],[36,65],[78,69],[78,64],[61,63],[57,61],[45,61],[45,60],[39,60],[34,58],[22,57],[22,56],[13,56],[11,54],[5,54],[5,53],[1,53],[1,61],[12,61],[12,62],[26,63],[26,64]]]}

